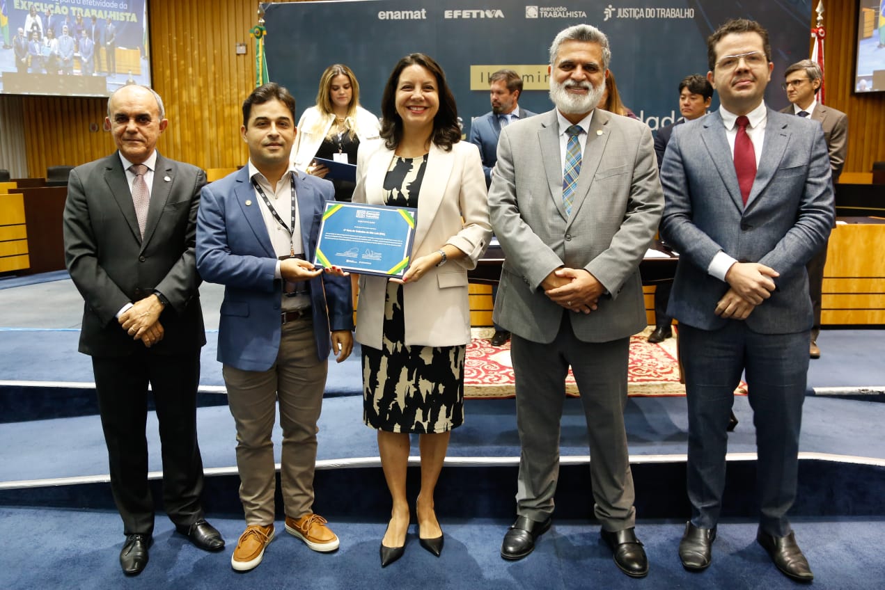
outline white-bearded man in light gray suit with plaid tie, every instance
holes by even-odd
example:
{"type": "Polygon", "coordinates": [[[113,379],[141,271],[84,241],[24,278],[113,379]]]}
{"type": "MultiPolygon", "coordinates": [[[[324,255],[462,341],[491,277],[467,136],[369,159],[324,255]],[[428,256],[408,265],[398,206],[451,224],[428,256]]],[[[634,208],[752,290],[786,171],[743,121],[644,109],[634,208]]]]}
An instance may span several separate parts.
{"type": "Polygon", "coordinates": [[[505,260],[494,319],[513,334],[522,448],[501,556],[527,556],[550,527],[571,365],[602,537],[621,571],[642,577],[623,410],[630,336],[646,325],[638,268],[664,195],[648,126],[595,108],[611,55],[595,27],[560,32],[548,68],[556,109],[512,123],[498,142],[489,209],[505,260]]]}

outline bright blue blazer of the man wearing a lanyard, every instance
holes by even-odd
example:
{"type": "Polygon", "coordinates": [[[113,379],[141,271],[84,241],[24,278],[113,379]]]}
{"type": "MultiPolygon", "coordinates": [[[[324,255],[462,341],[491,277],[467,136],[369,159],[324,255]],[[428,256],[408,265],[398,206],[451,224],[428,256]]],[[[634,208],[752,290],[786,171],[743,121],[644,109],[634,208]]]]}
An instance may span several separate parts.
{"type": "MultiPolygon", "coordinates": [[[[313,259],[327,202],[328,180],[296,174],[298,220],[304,257],[313,259]]],[[[258,208],[249,167],[203,188],[196,222],[196,268],[204,280],[225,286],[218,360],[242,371],[266,371],[280,349],[283,281],[274,279],[277,256],[258,208]]],[[[312,279],[313,333],[319,360],[332,349],[330,330],[353,329],[350,278],[312,279]]]]}

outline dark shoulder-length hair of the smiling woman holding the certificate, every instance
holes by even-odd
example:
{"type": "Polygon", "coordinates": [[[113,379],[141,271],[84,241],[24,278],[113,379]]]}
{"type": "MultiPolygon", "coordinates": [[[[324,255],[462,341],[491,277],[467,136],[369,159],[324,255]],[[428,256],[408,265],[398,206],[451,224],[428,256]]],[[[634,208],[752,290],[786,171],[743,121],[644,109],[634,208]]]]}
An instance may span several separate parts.
{"type": "Polygon", "coordinates": [[[423,53],[410,53],[400,59],[393,72],[390,73],[384,92],[381,95],[381,137],[388,149],[395,149],[403,139],[403,119],[396,112],[396,85],[403,70],[410,65],[420,65],[427,72],[432,73],[436,79],[436,91],[439,95],[440,106],[434,117],[434,132],[431,135],[437,147],[449,151],[451,146],[461,139],[461,127],[458,126],[458,106],[455,104],[455,96],[451,94],[448,82],[445,80],[443,68],[437,64],[433,57],[423,53]]]}

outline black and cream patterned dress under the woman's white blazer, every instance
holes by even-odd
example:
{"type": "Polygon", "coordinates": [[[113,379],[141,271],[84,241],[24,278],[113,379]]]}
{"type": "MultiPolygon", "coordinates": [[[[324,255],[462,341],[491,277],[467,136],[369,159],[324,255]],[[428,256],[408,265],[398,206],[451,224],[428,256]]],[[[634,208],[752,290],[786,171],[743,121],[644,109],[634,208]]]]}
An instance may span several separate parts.
{"type": "MultiPolygon", "coordinates": [[[[419,207],[427,156],[394,158],[384,201],[419,207]]],[[[429,311],[429,310],[428,310],[429,311]]],[[[466,346],[406,346],[403,286],[389,282],[381,350],[363,345],[363,420],[391,433],[444,433],[464,422],[466,346]]]]}

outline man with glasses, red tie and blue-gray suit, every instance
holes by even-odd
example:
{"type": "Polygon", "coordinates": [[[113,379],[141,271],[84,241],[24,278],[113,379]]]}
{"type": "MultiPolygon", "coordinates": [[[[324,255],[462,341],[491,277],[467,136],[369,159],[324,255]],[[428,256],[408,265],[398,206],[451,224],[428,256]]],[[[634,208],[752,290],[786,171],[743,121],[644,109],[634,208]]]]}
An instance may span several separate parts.
{"type": "Polygon", "coordinates": [[[812,303],[805,263],[834,218],[820,125],[766,107],[771,46],[735,19],[707,40],[720,109],[673,131],[661,165],[663,238],[680,252],[668,315],[680,322],[689,404],[691,520],[682,565],[703,570],[725,487],[728,413],[746,374],[758,448],[758,543],[792,579],[813,578],[789,525],[812,303]]]}

